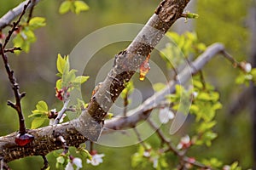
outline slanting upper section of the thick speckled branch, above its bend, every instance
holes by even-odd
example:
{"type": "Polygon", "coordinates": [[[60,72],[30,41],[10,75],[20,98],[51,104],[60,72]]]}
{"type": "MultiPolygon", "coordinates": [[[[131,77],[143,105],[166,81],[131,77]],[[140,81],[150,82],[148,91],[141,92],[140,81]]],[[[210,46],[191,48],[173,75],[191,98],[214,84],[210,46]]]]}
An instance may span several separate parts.
{"type": "Polygon", "coordinates": [[[104,120],[109,108],[125,88],[125,82],[130,81],[166,31],[180,18],[187,3],[189,0],[162,1],[129,47],[115,57],[113,69],[108,73],[101,88],[93,95],[88,106],[88,112],[96,122],[104,120]]]}

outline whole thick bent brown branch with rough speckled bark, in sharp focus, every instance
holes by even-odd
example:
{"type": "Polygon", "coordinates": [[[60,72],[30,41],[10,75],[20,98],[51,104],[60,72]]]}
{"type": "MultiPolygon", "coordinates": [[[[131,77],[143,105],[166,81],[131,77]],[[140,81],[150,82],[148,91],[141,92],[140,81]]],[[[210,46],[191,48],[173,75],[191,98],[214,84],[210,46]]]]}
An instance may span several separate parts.
{"type": "MultiPolygon", "coordinates": [[[[67,140],[67,145],[73,146],[87,139],[96,140],[101,133],[102,122],[108,109],[125,88],[124,83],[131,79],[139,65],[143,63],[170,26],[180,18],[187,3],[189,0],[164,0],[160,3],[137,38],[125,51],[116,56],[113,69],[102,83],[102,87],[98,88],[96,94],[90,99],[88,108],[78,119],[60,125],[29,130],[28,133],[31,133],[35,139],[23,147],[15,144],[17,133],[1,137],[0,159],[9,162],[26,156],[42,156],[53,150],[61,149],[61,143],[56,139],[58,135],[67,140]]],[[[10,17],[15,18],[15,14],[10,17]]],[[[7,19],[4,18],[4,20],[7,19]]],[[[0,26],[3,28],[8,24],[4,22],[0,26]]]]}

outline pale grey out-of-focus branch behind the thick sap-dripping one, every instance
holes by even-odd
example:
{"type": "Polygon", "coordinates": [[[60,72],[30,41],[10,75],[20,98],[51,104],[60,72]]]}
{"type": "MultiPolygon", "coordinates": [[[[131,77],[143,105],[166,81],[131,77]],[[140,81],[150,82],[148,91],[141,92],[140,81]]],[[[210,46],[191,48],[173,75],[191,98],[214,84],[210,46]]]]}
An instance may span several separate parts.
{"type": "Polygon", "coordinates": [[[172,94],[175,91],[176,84],[183,84],[189,80],[189,75],[196,74],[200,71],[207,62],[212,59],[216,54],[222,53],[224,46],[220,43],[214,43],[207,48],[207,50],[201,54],[194,62],[191,63],[191,67],[184,68],[177,77],[176,81],[168,83],[167,87],[160,92],[154,94],[150,98],[146,99],[142,105],[136,109],[128,111],[126,117],[113,118],[105,123],[106,128],[103,133],[111,132],[112,129],[123,129],[125,127],[134,127],[137,122],[148,118],[148,113],[157,105],[160,105],[166,98],[166,94],[172,94]]]}

